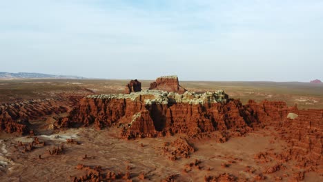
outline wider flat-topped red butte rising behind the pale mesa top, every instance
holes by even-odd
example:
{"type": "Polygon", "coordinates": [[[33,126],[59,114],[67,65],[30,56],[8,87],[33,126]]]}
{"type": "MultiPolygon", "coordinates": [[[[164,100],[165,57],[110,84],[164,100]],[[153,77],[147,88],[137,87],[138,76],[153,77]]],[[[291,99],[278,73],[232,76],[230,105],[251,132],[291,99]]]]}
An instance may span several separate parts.
{"type": "Polygon", "coordinates": [[[150,83],[149,90],[164,90],[167,92],[177,92],[184,94],[187,90],[179,85],[177,76],[159,77],[153,83],[150,83]]]}

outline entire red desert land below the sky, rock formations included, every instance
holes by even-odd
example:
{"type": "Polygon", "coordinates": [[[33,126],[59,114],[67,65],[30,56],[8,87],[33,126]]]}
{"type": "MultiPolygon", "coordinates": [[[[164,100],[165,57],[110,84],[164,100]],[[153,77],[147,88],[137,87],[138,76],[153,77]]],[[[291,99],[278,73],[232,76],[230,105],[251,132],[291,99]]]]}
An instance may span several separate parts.
{"type": "Polygon", "coordinates": [[[322,84],[140,82],[0,81],[0,181],[323,181],[322,84]]]}

